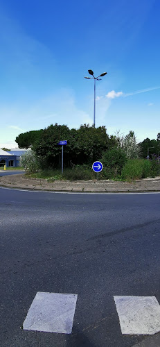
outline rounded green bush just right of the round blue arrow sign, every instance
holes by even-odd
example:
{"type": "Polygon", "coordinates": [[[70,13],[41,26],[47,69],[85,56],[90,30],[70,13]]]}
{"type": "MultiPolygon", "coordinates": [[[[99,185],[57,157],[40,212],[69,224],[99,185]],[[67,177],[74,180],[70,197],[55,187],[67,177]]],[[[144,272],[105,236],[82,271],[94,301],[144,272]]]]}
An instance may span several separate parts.
{"type": "Polygon", "coordinates": [[[127,162],[127,155],[123,149],[114,147],[104,152],[100,161],[103,163],[103,177],[116,178],[121,176],[123,166],[127,162]]]}

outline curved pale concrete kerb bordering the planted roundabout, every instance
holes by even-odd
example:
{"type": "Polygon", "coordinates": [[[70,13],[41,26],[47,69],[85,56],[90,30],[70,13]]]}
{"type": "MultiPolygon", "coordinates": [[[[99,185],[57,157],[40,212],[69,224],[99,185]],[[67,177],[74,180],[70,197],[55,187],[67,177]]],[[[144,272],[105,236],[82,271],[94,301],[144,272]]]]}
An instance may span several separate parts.
{"type": "Polygon", "coordinates": [[[86,192],[86,193],[136,193],[160,192],[160,177],[145,178],[132,183],[102,180],[102,181],[54,181],[48,183],[44,179],[26,178],[24,174],[1,176],[0,186],[16,189],[42,190],[51,192],[86,192]]]}

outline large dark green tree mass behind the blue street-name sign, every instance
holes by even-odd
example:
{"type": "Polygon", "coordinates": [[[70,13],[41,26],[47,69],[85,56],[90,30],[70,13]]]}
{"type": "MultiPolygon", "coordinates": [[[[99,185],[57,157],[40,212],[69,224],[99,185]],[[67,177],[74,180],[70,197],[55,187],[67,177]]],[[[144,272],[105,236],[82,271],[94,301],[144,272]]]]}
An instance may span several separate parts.
{"type": "Polygon", "coordinates": [[[116,139],[107,135],[105,126],[94,128],[87,124],[78,130],[69,129],[66,125],[51,124],[42,130],[39,139],[33,144],[33,150],[43,158],[44,164],[51,167],[60,166],[62,146],[61,140],[67,140],[64,146],[64,165],[88,164],[101,157],[103,151],[112,148],[116,139]]]}

